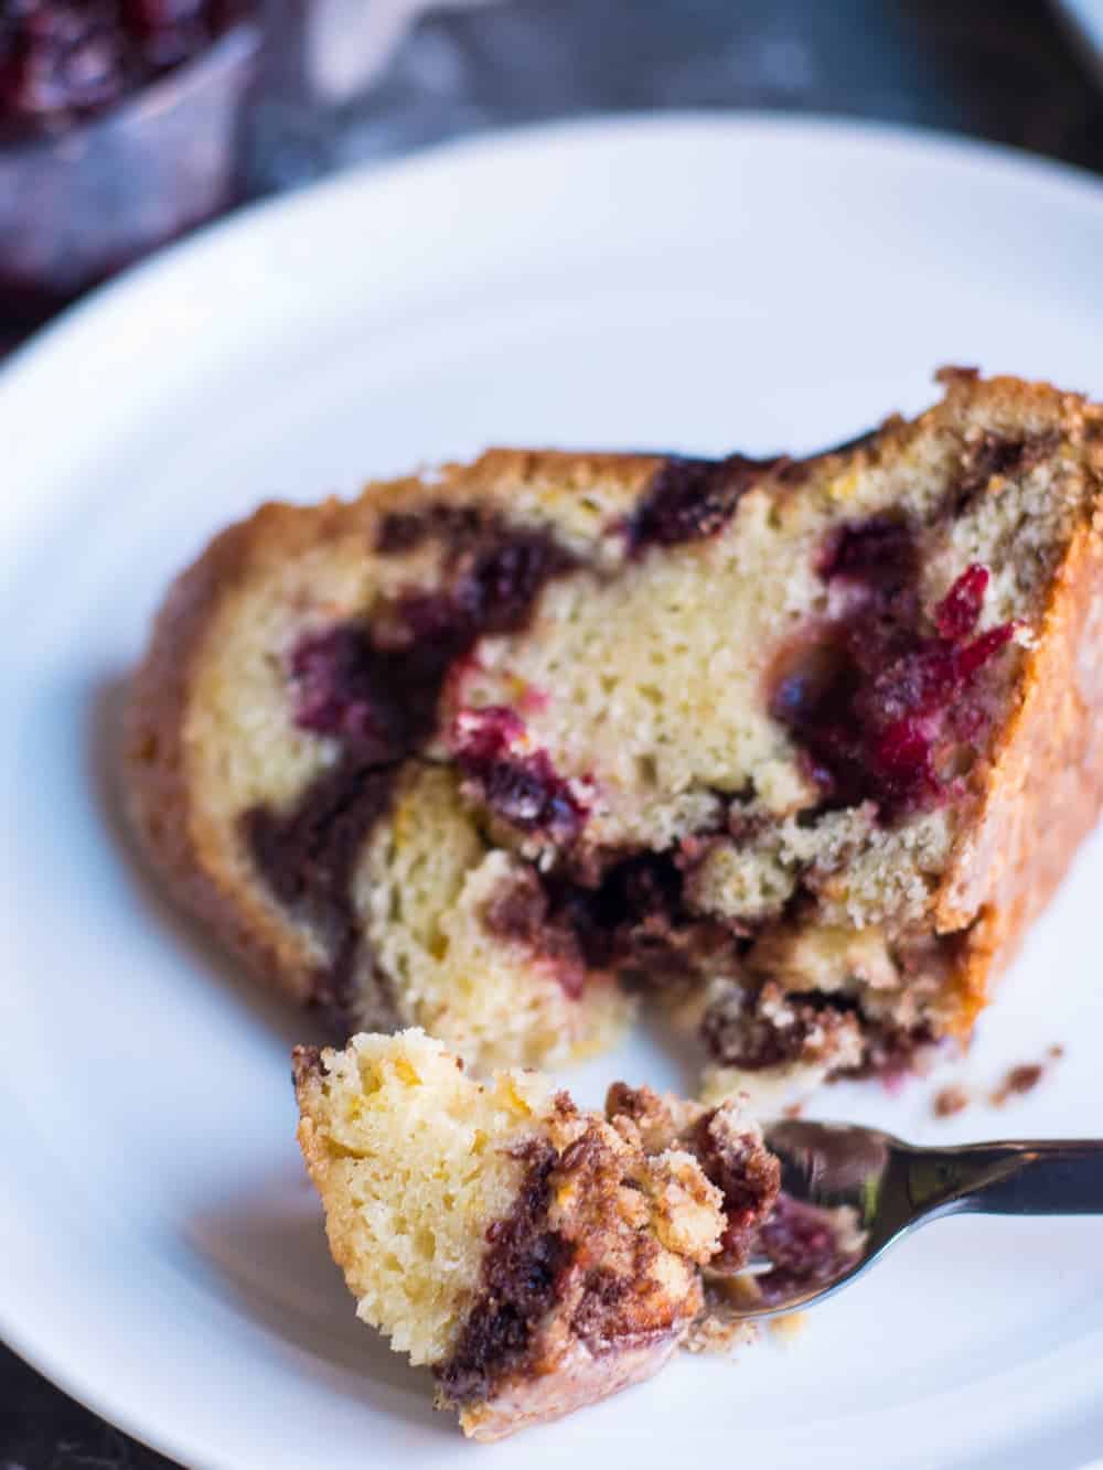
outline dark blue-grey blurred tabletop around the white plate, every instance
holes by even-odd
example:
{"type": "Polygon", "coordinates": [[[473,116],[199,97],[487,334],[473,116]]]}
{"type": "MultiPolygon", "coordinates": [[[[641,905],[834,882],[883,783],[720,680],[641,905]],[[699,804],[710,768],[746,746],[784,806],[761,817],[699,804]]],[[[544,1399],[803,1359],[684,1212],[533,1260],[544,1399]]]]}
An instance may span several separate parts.
{"type": "MultiPolygon", "coordinates": [[[[1103,173],[1103,90],[1041,0],[510,0],[425,19],[368,98],[304,138],[293,126],[259,176],[275,188],[500,123],[654,107],[877,118],[1103,173]]],[[[0,1470],[168,1466],[0,1348],[0,1470]]]]}

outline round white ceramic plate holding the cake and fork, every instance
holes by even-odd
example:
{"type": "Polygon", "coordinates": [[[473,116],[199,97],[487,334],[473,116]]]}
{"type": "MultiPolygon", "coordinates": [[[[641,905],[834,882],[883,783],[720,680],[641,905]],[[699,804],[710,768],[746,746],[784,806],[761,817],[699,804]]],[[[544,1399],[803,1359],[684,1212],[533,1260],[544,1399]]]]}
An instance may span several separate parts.
{"type": "MultiPolygon", "coordinates": [[[[353,1317],[293,1141],[307,1026],[162,907],[121,839],[119,681],[168,578],[263,497],[493,441],[810,450],[979,363],[1103,392],[1103,188],[991,148],[771,119],[490,138],[165,256],[0,378],[0,1327],[191,1467],[1082,1464],[1091,1220],[952,1220],[782,1348],[472,1451],[353,1317]]],[[[1038,841],[1046,833],[1038,832],[1038,841]]],[[[968,1064],[835,1116],[1102,1135],[1085,851],[968,1064]],[[1052,1042],[1031,1097],[931,1117],[1052,1042]]],[[[646,1039],[581,1075],[677,1080],[646,1039]]]]}

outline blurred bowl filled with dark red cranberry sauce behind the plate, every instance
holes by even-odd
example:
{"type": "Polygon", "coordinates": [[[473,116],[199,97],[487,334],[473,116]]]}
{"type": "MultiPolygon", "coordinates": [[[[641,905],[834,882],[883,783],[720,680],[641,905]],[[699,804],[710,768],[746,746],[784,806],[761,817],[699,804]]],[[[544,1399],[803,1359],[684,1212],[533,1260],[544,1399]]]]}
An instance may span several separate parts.
{"type": "Polygon", "coordinates": [[[251,0],[0,0],[0,306],[32,319],[238,196],[251,0]]]}

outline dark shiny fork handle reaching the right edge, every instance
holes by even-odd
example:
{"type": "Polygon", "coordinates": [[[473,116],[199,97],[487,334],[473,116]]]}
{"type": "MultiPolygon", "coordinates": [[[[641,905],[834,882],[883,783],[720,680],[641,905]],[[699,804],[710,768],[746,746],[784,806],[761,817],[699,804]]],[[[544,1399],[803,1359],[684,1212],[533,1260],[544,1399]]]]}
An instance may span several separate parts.
{"type": "Polygon", "coordinates": [[[922,1213],[1103,1214],[1099,1139],[919,1150],[910,1164],[922,1213]]]}

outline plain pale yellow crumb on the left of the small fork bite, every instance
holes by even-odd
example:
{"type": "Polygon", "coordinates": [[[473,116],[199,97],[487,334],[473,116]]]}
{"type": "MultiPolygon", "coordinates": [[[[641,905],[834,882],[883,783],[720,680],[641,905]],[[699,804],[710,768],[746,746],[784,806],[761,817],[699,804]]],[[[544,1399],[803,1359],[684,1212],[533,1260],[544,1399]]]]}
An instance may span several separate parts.
{"type": "Polygon", "coordinates": [[[441,1363],[475,1299],[487,1226],[522,1194],[552,1089],[521,1072],[478,1086],[416,1035],[357,1038],[325,1070],[310,1064],[307,1129],[343,1204],[329,1242],[357,1313],[413,1364],[441,1363]]]}

